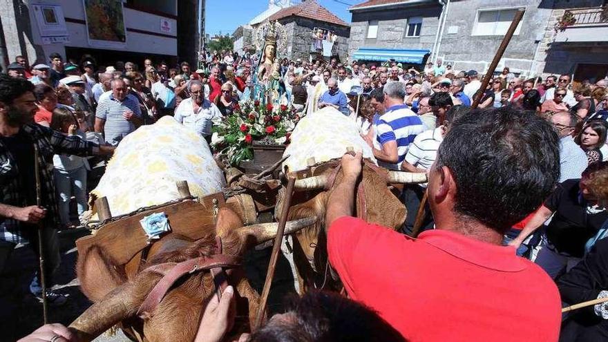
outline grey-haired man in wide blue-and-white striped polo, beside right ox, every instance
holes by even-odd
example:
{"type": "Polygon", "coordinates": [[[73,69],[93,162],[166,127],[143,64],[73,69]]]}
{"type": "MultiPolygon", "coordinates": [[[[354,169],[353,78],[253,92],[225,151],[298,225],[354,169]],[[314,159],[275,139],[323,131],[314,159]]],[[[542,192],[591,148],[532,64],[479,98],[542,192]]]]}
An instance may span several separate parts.
{"type": "Polygon", "coordinates": [[[403,104],[405,97],[406,86],[396,81],[387,82],[382,94],[379,90],[372,92],[372,104],[379,113],[383,113],[374,122],[376,140],[380,148],[374,149],[370,139],[367,139],[367,142],[379,164],[387,169],[400,169],[408,147],[414,142],[416,135],[424,131],[424,125],[418,115],[403,104]]]}

